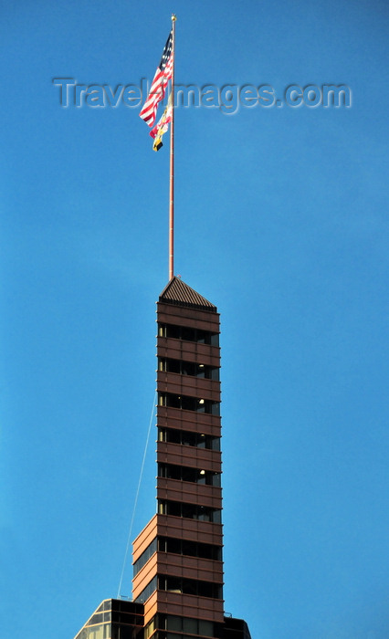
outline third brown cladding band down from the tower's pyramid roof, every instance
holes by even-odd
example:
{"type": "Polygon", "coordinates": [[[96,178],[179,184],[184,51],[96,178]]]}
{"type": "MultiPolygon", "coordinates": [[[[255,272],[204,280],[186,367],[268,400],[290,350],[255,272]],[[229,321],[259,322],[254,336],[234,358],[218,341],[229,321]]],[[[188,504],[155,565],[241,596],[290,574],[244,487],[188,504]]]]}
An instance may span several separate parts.
{"type": "Polygon", "coordinates": [[[157,372],[158,391],[220,402],[220,382],[177,372],[157,372]]]}

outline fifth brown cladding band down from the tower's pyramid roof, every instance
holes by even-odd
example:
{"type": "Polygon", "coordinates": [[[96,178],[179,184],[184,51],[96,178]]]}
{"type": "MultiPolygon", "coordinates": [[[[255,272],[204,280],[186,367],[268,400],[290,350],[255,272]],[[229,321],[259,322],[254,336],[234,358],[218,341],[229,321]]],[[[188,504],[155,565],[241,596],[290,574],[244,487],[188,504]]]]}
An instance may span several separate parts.
{"type": "Polygon", "coordinates": [[[221,453],[218,450],[197,448],[170,442],[157,443],[157,461],[176,466],[194,466],[214,473],[221,472],[221,453]]]}

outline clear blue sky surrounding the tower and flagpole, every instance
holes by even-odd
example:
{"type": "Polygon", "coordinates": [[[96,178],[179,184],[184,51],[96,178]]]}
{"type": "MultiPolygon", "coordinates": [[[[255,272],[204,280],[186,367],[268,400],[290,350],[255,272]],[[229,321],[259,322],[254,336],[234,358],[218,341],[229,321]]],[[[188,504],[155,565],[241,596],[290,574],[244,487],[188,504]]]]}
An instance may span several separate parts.
{"type": "MultiPolygon", "coordinates": [[[[350,109],[176,111],[175,273],[221,312],[226,611],[253,639],[386,639],[384,0],[2,3],[2,635],[68,639],[117,594],[168,149],[139,109],[61,108],[52,79],[152,79],[173,11],[178,82],[352,89],[350,109]]],[[[132,537],[154,476],[152,443],[132,537]]]]}

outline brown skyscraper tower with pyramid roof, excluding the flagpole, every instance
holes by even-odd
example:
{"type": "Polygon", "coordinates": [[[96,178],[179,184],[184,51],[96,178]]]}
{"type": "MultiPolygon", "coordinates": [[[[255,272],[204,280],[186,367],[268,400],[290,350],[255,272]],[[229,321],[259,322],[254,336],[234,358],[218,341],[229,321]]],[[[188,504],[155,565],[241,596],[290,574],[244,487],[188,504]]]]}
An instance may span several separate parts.
{"type": "Polygon", "coordinates": [[[173,277],[157,325],[157,513],[133,542],[133,601],[105,600],[76,639],[250,639],[224,612],[219,314],[173,277]]]}

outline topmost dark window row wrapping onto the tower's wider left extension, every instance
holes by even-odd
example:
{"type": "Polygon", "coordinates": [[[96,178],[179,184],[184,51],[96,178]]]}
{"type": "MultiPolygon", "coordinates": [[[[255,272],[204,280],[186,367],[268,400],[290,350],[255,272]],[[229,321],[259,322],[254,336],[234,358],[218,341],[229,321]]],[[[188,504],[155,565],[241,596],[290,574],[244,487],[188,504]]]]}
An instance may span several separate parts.
{"type": "Polygon", "coordinates": [[[222,549],[213,544],[200,543],[198,541],[187,541],[185,539],[174,539],[173,537],[158,537],[152,539],[152,543],[142,552],[142,555],[133,564],[133,576],[142,570],[145,563],[152,557],[154,552],[171,552],[175,555],[187,555],[189,557],[200,557],[201,559],[221,560],[222,549]]]}

